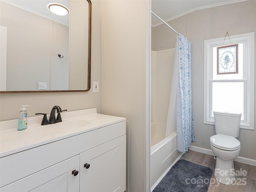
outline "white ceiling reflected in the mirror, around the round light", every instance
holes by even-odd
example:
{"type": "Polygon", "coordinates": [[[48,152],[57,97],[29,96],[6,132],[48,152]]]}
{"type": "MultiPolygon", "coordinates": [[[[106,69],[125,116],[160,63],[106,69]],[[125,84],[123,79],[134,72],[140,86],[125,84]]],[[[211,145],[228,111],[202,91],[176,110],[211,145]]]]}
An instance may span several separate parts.
{"type": "Polygon", "coordinates": [[[12,4],[32,13],[44,16],[66,26],[69,26],[69,15],[59,16],[48,9],[50,3],[58,3],[66,6],[69,9],[69,0],[3,0],[6,3],[12,4]]]}

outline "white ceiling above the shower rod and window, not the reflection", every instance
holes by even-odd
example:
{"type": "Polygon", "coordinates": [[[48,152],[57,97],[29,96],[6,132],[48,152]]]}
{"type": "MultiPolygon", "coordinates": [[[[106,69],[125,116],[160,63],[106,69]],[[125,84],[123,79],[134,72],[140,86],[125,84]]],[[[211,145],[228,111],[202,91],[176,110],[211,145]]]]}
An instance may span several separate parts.
{"type": "MultiPolygon", "coordinates": [[[[241,1],[244,0],[152,0],[152,11],[165,22],[168,22],[195,10],[241,1]]],[[[151,24],[155,27],[162,22],[152,14],[151,24]]]]}

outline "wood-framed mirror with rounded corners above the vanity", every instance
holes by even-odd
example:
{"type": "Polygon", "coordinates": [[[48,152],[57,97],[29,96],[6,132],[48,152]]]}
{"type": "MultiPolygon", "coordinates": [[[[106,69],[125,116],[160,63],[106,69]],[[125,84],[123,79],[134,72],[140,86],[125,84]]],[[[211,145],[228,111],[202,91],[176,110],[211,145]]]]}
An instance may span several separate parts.
{"type": "Polygon", "coordinates": [[[0,93],[90,90],[91,1],[57,2],[68,15],[52,0],[0,1],[0,93]]]}

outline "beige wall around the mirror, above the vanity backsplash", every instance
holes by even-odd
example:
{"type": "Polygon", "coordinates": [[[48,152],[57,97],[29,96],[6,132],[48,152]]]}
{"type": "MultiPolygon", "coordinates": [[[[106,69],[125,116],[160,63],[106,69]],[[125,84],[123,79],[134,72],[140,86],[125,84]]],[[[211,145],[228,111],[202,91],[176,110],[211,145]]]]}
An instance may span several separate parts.
{"type": "MultiPolygon", "coordinates": [[[[100,1],[92,0],[92,81],[101,82],[101,18],[100,1]]],[[[91,83],[92,86],[92,83],[91,83]]],[[[97,108],[101,112],[100,92],[60,92],[60,93],[1,93],[0,120],[18,118],[20,105],[30,105],[28,116],[35,116],[36,112],[50,113],[52,106],[59,105],[69,111],[97,108]]],[[[28,122],[29,124],[29,122],[28,122]]]]}

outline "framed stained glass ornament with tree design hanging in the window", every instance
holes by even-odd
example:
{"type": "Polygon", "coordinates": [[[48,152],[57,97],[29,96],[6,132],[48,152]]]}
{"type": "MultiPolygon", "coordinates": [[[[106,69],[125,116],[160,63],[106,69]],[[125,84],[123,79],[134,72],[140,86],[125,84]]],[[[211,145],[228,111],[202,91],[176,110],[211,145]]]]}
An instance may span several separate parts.
{"type": "Polygon", "coordinates": [[[217,47],[217,74],[238,73],[238,44],[217,47]]]}

